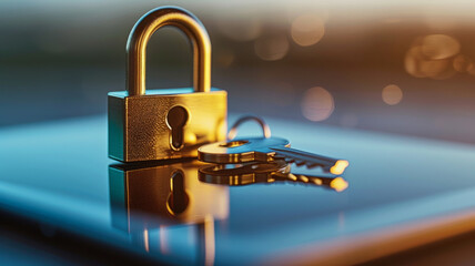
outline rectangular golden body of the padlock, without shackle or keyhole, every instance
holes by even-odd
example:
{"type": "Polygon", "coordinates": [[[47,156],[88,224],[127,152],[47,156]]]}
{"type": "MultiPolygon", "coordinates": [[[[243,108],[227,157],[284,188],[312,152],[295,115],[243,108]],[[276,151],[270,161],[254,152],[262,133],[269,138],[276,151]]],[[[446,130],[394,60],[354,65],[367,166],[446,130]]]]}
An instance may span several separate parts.
{"type": "Polygon", "coordinates": [[[125,91],[109,93],[109,156],[121,162],[196,157],[203,144],[223,141],[226,133],[228,93],[212,88],[148,90],[128,96],[125,91]],[[188,112],[183,145],[172,145],[169,111],[182,106],[188,112]]]}

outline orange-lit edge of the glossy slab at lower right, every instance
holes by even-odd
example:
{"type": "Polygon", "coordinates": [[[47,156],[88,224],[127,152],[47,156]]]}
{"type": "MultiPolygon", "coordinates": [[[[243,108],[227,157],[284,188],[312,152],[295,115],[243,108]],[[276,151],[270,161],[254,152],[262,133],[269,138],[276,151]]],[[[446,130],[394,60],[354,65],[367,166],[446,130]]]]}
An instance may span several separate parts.
{"type": "Polygon", "coordinates": [[[428,216],[400,226],[385,226],[365,234],[348,234],[327,242],[299,246],[272,256],[263,264],[360,265],[473,232],[474,219],[475,211],[471,208],[451,215],[428,216]]]}

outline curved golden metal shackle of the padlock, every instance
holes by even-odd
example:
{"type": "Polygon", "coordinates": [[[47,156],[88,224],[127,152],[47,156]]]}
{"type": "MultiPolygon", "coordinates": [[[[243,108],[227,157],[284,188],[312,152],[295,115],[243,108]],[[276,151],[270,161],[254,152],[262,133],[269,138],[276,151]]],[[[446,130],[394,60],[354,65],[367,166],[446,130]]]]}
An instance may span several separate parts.
{"type": "Polygon", "coordinates": [[[211,42],[201,21],[176,7],[161,7],[145,13],[132,28],[127,41],[127,90],[130,96],[145,94],[146,44],[164,25],[182,30],[193,44],[193,86],[196,92],[211,88],[211,42]]]}

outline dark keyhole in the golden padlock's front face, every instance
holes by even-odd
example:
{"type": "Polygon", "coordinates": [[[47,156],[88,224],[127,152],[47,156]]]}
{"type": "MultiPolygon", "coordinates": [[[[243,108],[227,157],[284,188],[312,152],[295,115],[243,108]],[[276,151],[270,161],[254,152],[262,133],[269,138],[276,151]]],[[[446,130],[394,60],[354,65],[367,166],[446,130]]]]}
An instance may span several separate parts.
{"type": "Polygon", "coordinates": [[[166,115],[166,123],[172,131],[170,144],[175,151],[183,147],[183,126],[186,124],[188,117],[188,111],[182,106],[172,108],[166,115]]]}

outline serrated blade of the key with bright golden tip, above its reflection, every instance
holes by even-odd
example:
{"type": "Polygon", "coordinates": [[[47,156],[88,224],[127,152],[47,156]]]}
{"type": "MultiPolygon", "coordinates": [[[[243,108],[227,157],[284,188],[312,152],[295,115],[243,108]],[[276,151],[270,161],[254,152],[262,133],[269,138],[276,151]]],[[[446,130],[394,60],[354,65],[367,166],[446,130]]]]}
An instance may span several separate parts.
{"type": "Polygon", "coordinates": [[[335,175],[343,174],[350,164],[346,160],[331,158],[292,147],[270,147],[270,150],[275,152],[276,157],[285,157],[287,161],[297,163],[297,165],[305,164],[309,168],[322,166],[335,175]]]}

